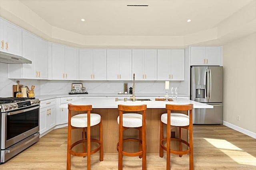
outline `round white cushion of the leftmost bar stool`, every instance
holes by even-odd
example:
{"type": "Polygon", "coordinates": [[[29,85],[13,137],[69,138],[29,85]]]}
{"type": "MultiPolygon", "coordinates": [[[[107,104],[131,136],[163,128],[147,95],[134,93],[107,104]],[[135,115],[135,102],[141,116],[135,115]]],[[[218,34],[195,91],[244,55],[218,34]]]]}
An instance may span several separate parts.
{"type": "MultiPolygon", "coordinates": [[[[96,113],[90,113],[90,126],[100,123],[100,115],[96,113]]],[[[71,125],[73,127],[87,127],[87,113],[74,115],[71,117],[71,125]]]]}

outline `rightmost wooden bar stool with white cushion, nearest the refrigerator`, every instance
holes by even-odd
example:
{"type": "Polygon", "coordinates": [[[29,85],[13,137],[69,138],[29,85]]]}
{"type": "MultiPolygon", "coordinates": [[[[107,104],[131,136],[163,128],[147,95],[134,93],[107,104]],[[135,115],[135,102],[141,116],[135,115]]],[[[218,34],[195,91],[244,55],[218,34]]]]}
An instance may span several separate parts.
{"type": "Polygon", "coordinates": [[[161,115],[160,123],[160,157],[163,157],[163,149],[166,150],[166,170],[170,170],[170,153],[178,154],[180,157],[183,154],[189,153],[189,169],[194,169],[194,158],[193,158],[193,119],[192,119],[192,109],[193,104],[188,105],[171,105],[166,104],[167,113],[161,115]],[[172,111],[189,111],[189,115],[184,113],[171,113],[172,111]],[[163,123],[167,125],[166,138],[163,136],[163,123]],[[170,127],[176,126],[179,127],[179,138],[170,137],[170,127]],[[182,140],[182,128],[189,131],[189,143],[182,140]],[[170,140],[179,142],[179,150],[170,149],[170,140]],[[163,144],[163,141],[167,141],[166,147],[163,144]],[[188,146],[187,150],[182,150],[182,143],[188,146]]]}

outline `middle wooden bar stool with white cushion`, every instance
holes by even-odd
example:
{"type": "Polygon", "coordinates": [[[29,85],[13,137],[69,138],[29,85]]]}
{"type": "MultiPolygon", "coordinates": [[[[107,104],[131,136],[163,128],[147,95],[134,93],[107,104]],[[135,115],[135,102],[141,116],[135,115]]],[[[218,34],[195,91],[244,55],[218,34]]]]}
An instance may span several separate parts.
{"type": "Polygon", "coordinates": [[[116,149],[118,150],[118,170],[122,170],[123,155],[125,156],[139,156],[142,158],[142,170],[146,170],[146,109],[147,105],[140,106],[125,106],[118,105],[119,116],[117,122],[119,124],[119,142],[116,149]],[[124,112],[138,112],[140,113],[124,113],[124,112]],[[123,139],[123,131],[129,128],[139,130],[139,139],[128,138],[123,139]],[[138,152],[123,151],[123,142],[134,141],[139,142],[138,152]]]}

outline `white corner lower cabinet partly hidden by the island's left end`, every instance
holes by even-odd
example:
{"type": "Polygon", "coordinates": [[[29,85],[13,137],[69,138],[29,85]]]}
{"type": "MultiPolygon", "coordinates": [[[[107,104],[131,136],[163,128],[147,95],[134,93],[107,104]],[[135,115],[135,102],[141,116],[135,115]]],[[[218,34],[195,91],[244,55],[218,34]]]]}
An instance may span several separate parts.
{"type": "MultiPolygon", "coordinates": [[[[68,105],[68,103],[77,100],[78,96],[60,98],[60,105],[68,105]]],[[[60,109],[60,124],[68,123],[68,108],[60,109]]]]}

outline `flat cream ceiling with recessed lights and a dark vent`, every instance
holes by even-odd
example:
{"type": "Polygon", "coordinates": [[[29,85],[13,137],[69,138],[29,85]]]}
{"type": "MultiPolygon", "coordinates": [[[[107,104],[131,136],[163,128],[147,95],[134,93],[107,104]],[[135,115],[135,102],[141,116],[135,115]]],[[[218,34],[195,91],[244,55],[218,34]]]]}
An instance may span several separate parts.
{"type": "MultiPolygon", "coordinates": [[[[224,20],[255,0],[0,1],[19,2],[41,22],[68,31],[70,35],[76,33],[81,36],[184,37],[218,27],[224,20]],[[148,6],[127,6],[128,4],[148,6]],[[81,21],[82,18],[85,19],[84,22],[81,21]],[[187,22],[188,19],[192,21],[187,22]]],[[[8,11],[6,6],[2,8],[8,11]]],[[[16,14],[16,17],[19,16],[16,14]]],[[[51,31],[48,36],[54,37],[53,33],[54,31],[51,31]]],[[[60,38],[56,36],[56,39],[60,38]]],[[[67,39],[64,41],[68,41],[67,39]]]]}

